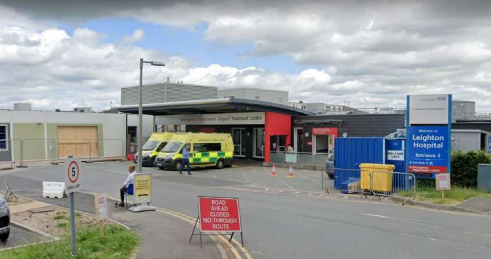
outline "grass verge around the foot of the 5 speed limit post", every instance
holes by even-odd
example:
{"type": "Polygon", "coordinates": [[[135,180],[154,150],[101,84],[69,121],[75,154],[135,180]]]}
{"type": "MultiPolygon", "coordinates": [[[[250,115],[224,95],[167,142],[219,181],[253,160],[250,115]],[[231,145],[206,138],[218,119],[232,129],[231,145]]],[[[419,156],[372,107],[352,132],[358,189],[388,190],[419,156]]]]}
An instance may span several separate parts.
{"type": "MultiPolygon", "coordinates": [[[[139,244],[136,233],[117,225],[106,227],[102,237],[99,229],[86,229],[77,233],[77,259],[129,258],[139,244]]],[[[0,251],[2,259],[65,259],[71,258],[70,236],[60,241],[0,251]]]]}

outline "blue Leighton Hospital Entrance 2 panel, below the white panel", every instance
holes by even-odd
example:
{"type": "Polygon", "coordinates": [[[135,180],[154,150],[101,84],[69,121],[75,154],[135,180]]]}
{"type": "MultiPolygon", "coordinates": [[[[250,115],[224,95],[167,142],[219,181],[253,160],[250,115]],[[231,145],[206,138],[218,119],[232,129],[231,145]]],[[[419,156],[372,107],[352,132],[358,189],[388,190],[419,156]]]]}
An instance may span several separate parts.
{"type": "Polygon", "coordinates": [[[411,173],[447,173],[449,134],[447,126],[408,128],[408,165],[411,173]]]}

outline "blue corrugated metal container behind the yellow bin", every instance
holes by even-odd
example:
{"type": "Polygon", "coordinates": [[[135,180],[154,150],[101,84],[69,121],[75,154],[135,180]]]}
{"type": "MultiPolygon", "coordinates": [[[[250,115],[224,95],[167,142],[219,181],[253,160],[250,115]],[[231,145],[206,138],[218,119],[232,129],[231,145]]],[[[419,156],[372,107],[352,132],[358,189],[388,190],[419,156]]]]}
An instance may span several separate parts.
{"type": "Polygon", "coordinates": [[[384,139],[378,138],[336,138],[334,140],[334,188],[349,178],[360,178],[360,163],[384,163],[384,139]],[[342,168],[342,169],[341,169],[342,168]],[[351,169],[351,170],[350,170],[351,169]]]}

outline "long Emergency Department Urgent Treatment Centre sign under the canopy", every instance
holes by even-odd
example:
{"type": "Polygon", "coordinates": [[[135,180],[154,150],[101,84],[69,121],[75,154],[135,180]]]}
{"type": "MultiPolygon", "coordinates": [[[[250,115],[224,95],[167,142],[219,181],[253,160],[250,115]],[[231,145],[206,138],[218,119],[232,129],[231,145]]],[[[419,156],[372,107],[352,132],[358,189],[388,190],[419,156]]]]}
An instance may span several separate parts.
{"type": "Polygon", "coordinates": [[[264,124],[264,112],[184,114],[155,116],[155,122],[171,125],[250,125],[264,124]]]}

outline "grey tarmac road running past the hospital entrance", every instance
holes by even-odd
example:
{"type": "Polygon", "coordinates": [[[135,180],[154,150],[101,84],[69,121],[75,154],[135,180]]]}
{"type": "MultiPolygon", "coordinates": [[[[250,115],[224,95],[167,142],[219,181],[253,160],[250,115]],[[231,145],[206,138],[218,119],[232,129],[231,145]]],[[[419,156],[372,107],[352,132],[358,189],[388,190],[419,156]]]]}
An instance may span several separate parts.
{"type": "MultiPolygon", "coordinates": [[[[84,164],[82,188],[116,197],[127,165],[84,164]]],[[[62,167],[2,171],[0,180],[11,181],[13,189],[26,189],[23,182],[32,187],[35,181],[63,181],[62,167]]],[[[198,195],[239,197],[244,241],[253,258],[490,258],[490,216],[295,194],[316,189],[316,174],[302,175],[286,178],[280,172],[275,179],[260,166],[196,170],[193,176],[158,171],[152,204],[196,216],[198,195]],[[258,191],[258,186],[282,187],[285,192],[258,191]]],[[[191,228],[183,231],[191,233],[191,228]]]]}

